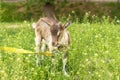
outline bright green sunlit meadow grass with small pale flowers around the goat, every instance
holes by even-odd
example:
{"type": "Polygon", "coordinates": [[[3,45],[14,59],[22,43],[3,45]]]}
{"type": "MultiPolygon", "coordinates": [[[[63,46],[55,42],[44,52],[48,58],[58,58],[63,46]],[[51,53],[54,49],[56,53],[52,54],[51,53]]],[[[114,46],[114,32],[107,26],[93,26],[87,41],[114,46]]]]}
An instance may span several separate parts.
{"type": "MultiPolygon", "coordinates": [[[[30,22],[0,23],[0,46],[34,51],[34,30],[30,22]]],[[[60,55],[52,70],[51,58],[41,67],[35,54],[0,51],[0,80],[119,80],[120,25],[113,23],[72,23],[68,28],[71,45],[67,63],[70,77],[62,72],[60,55]]]]}

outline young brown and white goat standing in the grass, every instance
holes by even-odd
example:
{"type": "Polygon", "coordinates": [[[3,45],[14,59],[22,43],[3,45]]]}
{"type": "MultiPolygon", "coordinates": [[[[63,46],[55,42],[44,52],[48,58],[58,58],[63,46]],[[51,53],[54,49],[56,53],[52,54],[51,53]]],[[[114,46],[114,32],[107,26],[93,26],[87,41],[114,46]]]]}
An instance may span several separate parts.
{"type": "MultiPolygon", "coordinates": [[[[61,22],[57,22],[48,17],[40,18],[37,23],[33,23],[32,27],[35,29],[35,51],[38,54],[41,51],[44,52],[46,45],[49,51],[52,53],[54,47],[58,49],[61,46],[66,46],[68,48],[70,44],[70,36],[66,28],[70,25],[70,22],[67,22],[65,25],[62,25],[61,22]]],[[[54,54],[53,54],[54,55],[54,54]]],[[[63,61],[63,72],[65,75],[68,75],[65,69],[67,63],[67,53],[64,54],[62,59],[63,61]]],[[[39,58],[37,56],[36,63],[39,63],[39,58]]]]}

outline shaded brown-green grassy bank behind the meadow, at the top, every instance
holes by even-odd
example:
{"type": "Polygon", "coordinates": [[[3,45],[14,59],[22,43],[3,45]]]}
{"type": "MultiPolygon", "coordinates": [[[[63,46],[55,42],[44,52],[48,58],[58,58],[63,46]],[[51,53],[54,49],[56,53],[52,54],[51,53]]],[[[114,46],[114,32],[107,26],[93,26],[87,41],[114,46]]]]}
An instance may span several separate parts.
{"type": "MultiPolygon", "coordinates": [[[[50,1],[51,2],[51,1],[50,1]]],[[[27,0],[21,2],[0,2],[0,21],[13,22],[23,20],[38,20],[44,16],[43,6],[45,1],[27,0]],[[9,14],[8,14],[9,13],[9,14]]],[[[55,13],[61,20],[83,21],[84,14],[90,12],[89,19],[92,21],[92,16],[101,18],[103,15],[109,16],[111,20],[120,19],[120,3],[107,2],[58,2],[53,3],[55,13]],[[61,14],[62,13],[62,14],[61,14]],[[78,18],[79,17],[79,18],[78,18]]]]}

